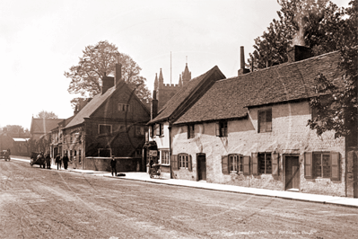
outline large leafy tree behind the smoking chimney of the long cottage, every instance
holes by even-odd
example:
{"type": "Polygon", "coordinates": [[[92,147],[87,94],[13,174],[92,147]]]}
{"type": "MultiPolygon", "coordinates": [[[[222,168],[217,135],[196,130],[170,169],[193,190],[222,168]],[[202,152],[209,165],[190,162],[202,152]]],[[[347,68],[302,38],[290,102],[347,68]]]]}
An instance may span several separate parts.
{"type": "Polygon", "coordinates": [[[315,56],[337,49],[344,38],[343,8],[328,0],[277,0],[279,19],[270,23],[267,31],[255,39],[255,51],[249,54],[249,64],[264,68],[287,61],[287,48],[307,46],[315,56]],[[253,60],[253,62],[252,62],[253,60]]]}

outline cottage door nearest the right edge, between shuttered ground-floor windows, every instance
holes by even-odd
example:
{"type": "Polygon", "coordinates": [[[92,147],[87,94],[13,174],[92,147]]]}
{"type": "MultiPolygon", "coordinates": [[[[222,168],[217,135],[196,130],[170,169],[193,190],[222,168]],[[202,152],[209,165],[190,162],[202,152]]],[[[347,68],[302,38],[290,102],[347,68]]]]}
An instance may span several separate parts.
{"type": "Polygon", "coordinates": [[[284,156],[285,190],[300,190],[299,156],[284,156]]]}

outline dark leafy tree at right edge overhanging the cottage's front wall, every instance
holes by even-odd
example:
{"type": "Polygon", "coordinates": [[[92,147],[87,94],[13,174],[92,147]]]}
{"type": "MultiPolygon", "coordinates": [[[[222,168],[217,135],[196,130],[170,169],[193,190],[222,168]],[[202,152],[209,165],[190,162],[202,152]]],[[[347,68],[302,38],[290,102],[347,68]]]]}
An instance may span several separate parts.
{"type": "Polygon", "coordinates": [[[342,25],[344,38],[337,48],[341,59],[339,67],[344,71],[338,83],[329,81],[324,74],[315,78],[316,93],[310,106],[317,111],[317,117],[308,121],[311,129],[320,136],[328,130],[335,130],[335,137],[348,137],[349,146],[357,146],[358,132],[358,1],[351,1],[345,9],[348,18],[342,25]]]}

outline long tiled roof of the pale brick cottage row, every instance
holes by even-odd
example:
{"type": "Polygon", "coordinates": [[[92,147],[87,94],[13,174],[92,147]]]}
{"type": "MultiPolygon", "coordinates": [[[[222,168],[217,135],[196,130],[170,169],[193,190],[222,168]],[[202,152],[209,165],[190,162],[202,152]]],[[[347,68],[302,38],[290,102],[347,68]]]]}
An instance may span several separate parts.
{"type": "Polygon", "coordinates": [[[312,97],[319,73],[327,79],[341,75],[339,58],[336,51],[217,81],[174,124],[237,119],[247,115],[245,107],[312,97]]]}

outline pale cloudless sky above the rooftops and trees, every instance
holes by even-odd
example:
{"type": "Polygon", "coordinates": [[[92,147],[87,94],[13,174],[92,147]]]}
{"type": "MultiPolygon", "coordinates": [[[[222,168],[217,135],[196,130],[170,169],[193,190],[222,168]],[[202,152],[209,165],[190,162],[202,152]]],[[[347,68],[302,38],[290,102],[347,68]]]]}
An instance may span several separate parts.
{"type": "Polygon", "coordinates": [[[279,9],[276,0],[1,0],[0,127],[30,129],[40,111],[71,117],[78,95],[64,73],[100,40],[135,60],[151,92],[161,68],[164,83],[178,84],[186,63],[192,78],[214,66],[235,76],[240,46],[249,58],[279,9]]]}

